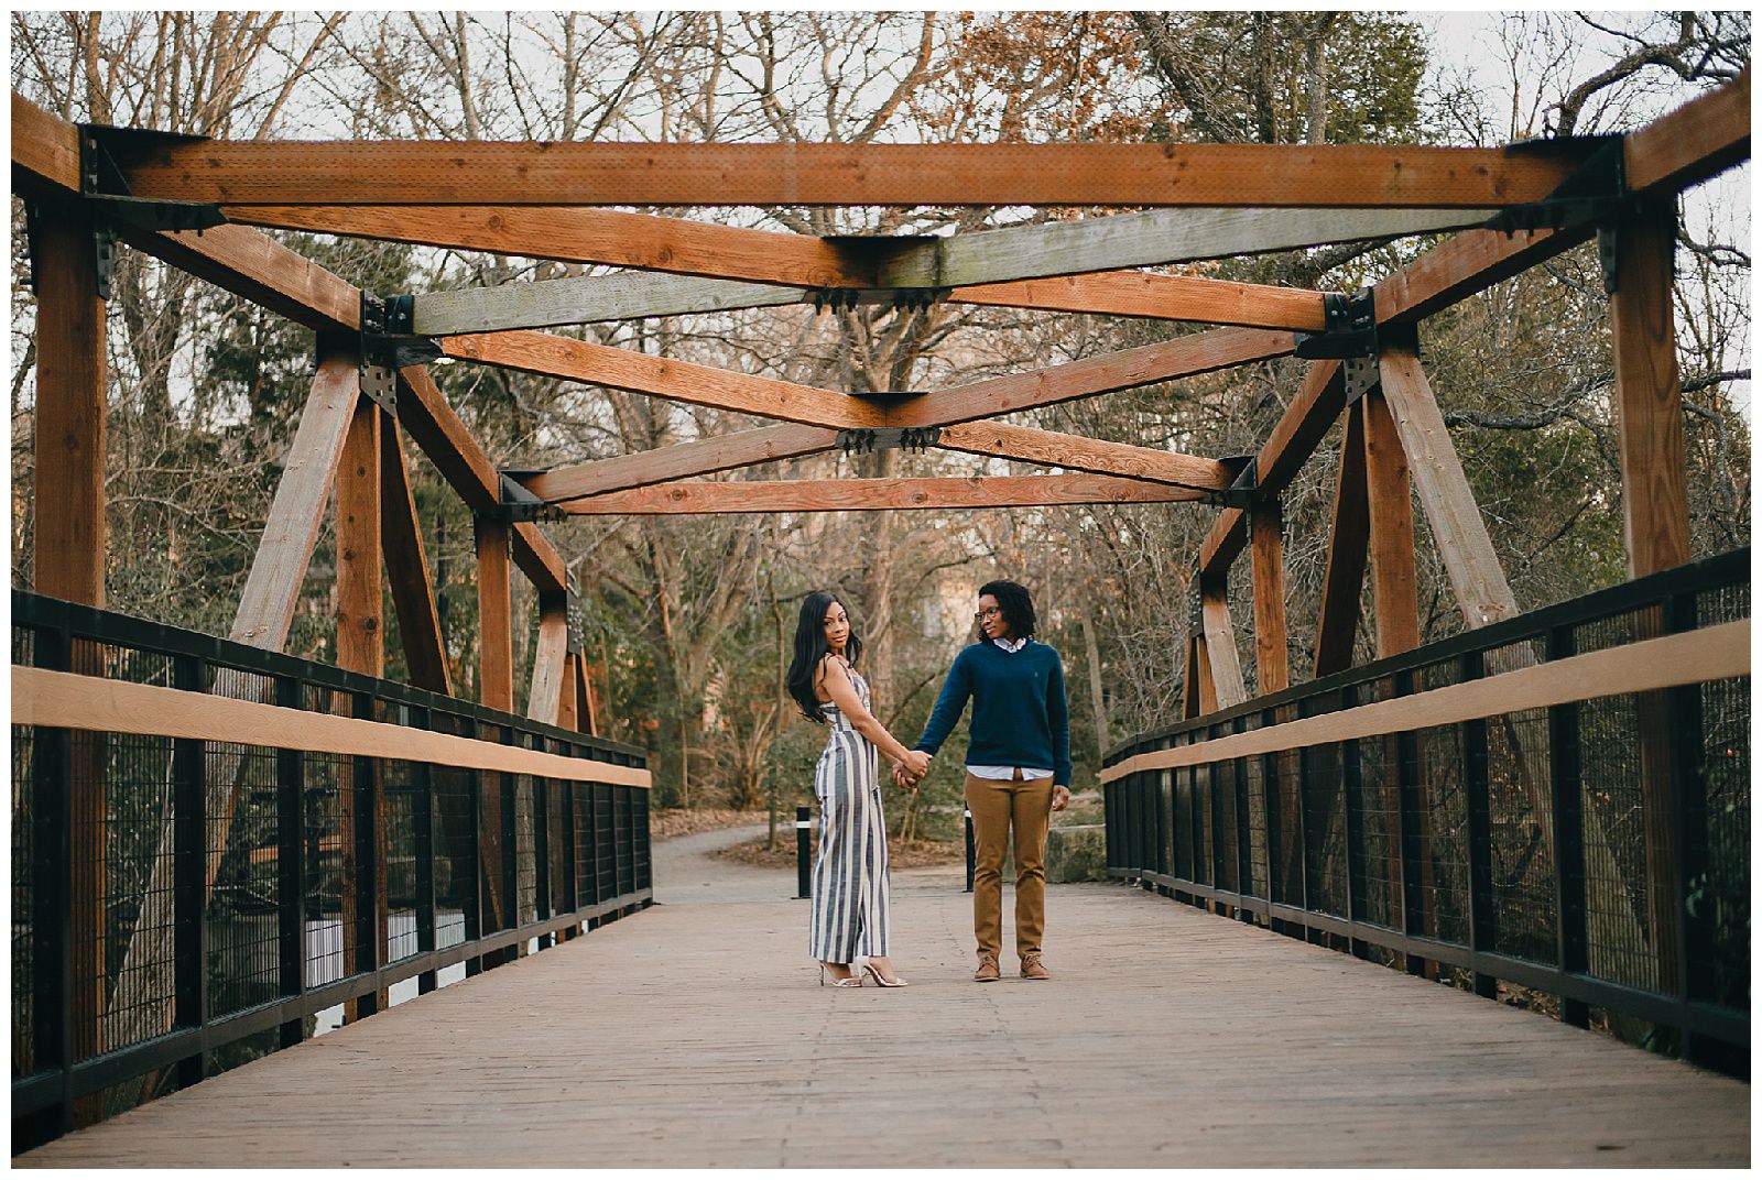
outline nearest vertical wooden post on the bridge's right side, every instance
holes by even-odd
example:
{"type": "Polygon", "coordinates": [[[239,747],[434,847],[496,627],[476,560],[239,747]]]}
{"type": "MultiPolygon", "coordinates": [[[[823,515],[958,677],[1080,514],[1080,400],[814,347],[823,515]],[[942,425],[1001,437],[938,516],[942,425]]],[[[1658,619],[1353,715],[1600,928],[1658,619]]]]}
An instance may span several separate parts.
{"type": "MultiPolygon", "coordinates": [[[[1676,197],[1642,203],[1616,227],[1616,291],[1609,326],[1616,352],[1616,412],[1621,435],[1621,534],[1628,576],[1642,578],[1690,560],[1688,476],[1683,446],[1683,379],[1676,359],[1670,277],[1676,197]]],[[[1662,609],[1635,620],[1635,639],[1665,632],[1662,609]]],[[[1681,986],[1683,833],[1677,830],[1670,759],[1669,694],[1635,701],[1640,726],[1640,810],[1646,822],[1646,884],[1658,985],[1681,986]]]]}

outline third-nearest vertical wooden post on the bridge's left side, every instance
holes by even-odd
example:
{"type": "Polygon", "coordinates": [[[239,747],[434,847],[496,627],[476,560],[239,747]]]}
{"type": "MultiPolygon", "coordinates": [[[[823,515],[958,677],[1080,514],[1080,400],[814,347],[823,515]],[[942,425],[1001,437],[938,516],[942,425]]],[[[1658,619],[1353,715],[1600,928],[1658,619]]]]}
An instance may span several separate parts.
{"type": "MultiPolygon", "coordinates": [[[[478,542],[478,699],[488,708],[506,713],[515,710],[515,623],[513,585],[509,583],[506,521],[478,516],[474,521],[478,542]]],[[[502,840],[502,794],[513,791],[502,775],[481,773],[483,801],[483,858],[481,881],[486,888],[488,912],[483,930],[506,930],[513,923],[515,898],[506,889],[504,858],[513,851],[502,840]]],[[[495,965],[513,955],[486,956],[495,965]]]]}

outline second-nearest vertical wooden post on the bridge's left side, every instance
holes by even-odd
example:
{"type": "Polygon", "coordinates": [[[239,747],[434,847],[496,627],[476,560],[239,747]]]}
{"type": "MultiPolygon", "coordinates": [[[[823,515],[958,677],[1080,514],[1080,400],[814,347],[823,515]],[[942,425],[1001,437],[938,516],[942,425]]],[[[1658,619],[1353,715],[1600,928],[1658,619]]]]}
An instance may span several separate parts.
{"type": "MultiPolygon", "coordinates": [[[[337,666],[366,676],[386,673],[384,578],[381,576],[381,433],[388,428],[384,410],[370,398],[358,398],[344,435],[337,465],[337,666]]],[[[354,759],[351,789],[359,807],[349,807],[352,830],[344,831],[349,847],[368,852],[368,863],[356,865],[352,881],[344,882],[344,974],[372,970],[384,958],[386,942],[386,800],[382,775],[372,759],[354,759]],[[363,914],[366,902],[372,909],[363,914]],[[368,921],[370,918],[370,921],[368,921]],[[356,946],[352,933],[370,937],[356,946]],[[359,962],[358,962],[359,956],[359,962]]],[[[347,1018],[384,1011],[386,997],[374,1004],[349,1002],[347,1018]]]]}

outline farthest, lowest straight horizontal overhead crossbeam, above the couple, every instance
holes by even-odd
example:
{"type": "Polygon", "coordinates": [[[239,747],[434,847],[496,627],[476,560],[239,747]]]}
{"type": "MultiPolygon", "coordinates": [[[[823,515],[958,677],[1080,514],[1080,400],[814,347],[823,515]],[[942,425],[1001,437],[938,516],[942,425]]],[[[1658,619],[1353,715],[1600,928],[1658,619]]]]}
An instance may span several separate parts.
{"type": "Polygon", "coordinates": [[[664,483],[571,500],[578,516],[707,513],[863,513],[1052,504],[1175,504],[1202,491],[1108,476],[943,476],[930,479],[774,479],[664,483]]]}

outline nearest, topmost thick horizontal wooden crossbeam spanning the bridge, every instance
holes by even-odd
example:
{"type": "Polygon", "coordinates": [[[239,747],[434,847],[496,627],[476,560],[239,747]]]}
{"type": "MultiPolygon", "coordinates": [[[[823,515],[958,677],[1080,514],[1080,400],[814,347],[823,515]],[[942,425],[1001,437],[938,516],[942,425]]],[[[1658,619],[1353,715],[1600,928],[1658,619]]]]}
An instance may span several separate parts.
{"type": "Polygon", "coordinates": [[[166,144],[137,197],[204,204],[1048,204],[1489,208],[1549,195],[1582,141],[1410,144],[166,144]]]}

